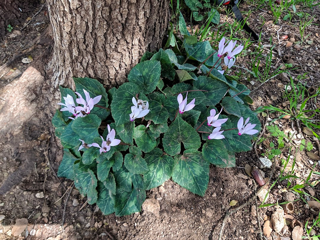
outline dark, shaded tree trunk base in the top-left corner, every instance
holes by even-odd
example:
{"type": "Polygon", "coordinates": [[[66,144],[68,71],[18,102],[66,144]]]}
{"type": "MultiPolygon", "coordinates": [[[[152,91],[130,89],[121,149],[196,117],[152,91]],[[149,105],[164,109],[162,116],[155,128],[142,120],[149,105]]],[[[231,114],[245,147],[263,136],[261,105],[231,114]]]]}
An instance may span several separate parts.
{"type": "MultiPolygon", "coordinates": [[[[35,10],[39,0],[0,0],[0,40],[10,24],[23,22],[28,17],[28,12],[35,10]]],[[[30,17],[30,16],[29,16],[30,17]]]]}

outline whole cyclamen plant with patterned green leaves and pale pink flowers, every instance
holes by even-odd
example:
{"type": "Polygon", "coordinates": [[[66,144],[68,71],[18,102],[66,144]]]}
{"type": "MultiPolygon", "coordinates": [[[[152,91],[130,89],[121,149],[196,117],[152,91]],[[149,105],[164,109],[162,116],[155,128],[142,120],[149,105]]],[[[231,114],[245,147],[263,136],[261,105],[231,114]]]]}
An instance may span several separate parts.
{"type": "Polygon", "coordinates": [[[190,37],[178,47],[175,38],[175,52],[146,52],[108,93],[91,78],[74,78],[76,93],[60,87],[52,119],[64,147],[58,176],[74,180],[103,214],[139,212],[146,190],[170,178],[204,196],[210,164],[233,167],[236,152],[252,149],[261,124],[247,106],[250,91],[219,72],[235,42],[217,53],[190,37]]]}

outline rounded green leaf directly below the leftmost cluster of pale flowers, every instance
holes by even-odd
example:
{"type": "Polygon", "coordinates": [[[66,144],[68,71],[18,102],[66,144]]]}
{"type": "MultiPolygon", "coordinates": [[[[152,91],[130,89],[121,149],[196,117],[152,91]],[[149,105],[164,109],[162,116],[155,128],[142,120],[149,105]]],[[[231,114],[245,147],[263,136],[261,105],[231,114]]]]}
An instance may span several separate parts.
{"type": "Polygon", "coordinates": [[[95,137],[99,136],[98,128],[101,124],[101,119],[92,113],[85,117],[78,117],[72,122],[72,129],[80,139],[86,143],[92,143],[95,137]]]}

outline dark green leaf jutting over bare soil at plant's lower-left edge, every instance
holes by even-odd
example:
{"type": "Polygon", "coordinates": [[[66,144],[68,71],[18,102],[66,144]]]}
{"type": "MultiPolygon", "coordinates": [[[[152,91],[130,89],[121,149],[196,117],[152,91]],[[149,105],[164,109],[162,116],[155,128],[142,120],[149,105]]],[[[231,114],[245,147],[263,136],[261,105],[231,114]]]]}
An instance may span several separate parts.
{"type": "Polygon", "coordinates": [[[63,149],[63,158],[58,168],[58,177],[65,177],[74,180],[75,171],[73,167],[77,160],[79,159],[71,154],[68,148],[63,149]]]}

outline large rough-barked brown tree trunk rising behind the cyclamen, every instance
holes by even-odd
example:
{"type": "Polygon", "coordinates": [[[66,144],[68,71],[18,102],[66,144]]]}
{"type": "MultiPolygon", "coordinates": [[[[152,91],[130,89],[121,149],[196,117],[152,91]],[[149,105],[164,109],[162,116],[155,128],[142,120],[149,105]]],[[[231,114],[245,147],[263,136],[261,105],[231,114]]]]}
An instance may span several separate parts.
{"type": "Polygon", "coordinates": [[[98,79],[109,89],[125,82],[144,52],[162,46],[168,0],[47,0],[57,84],[98,79]]]}

